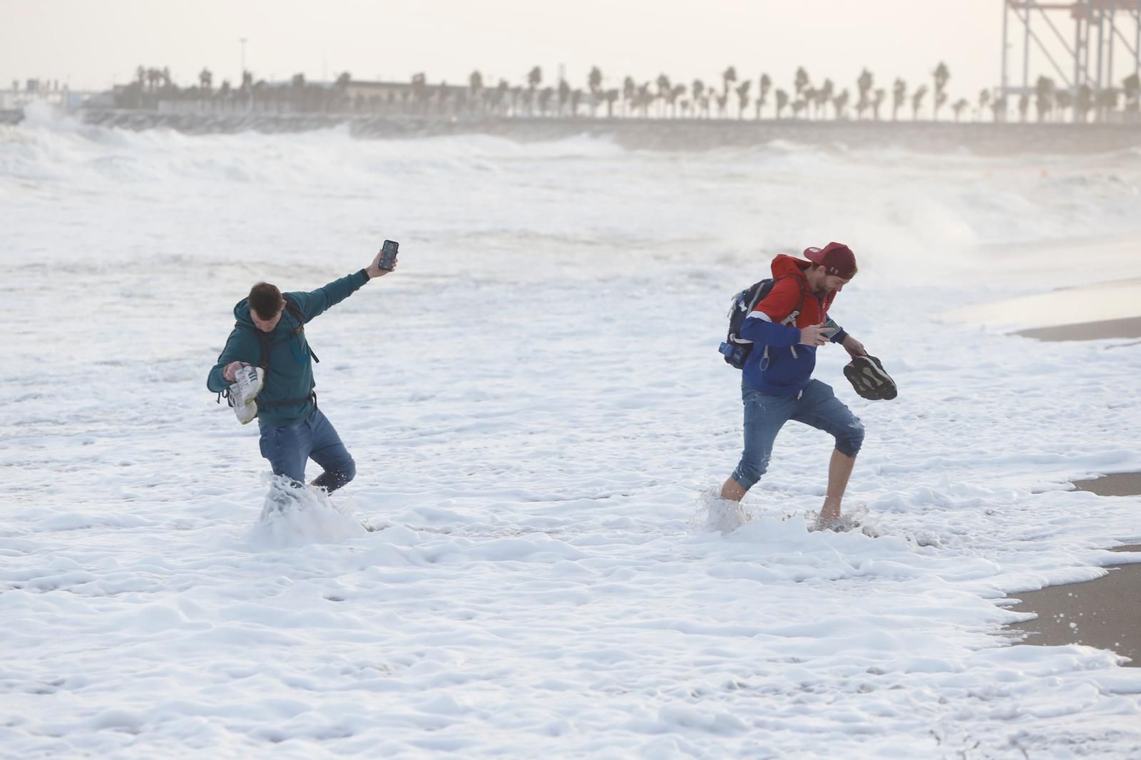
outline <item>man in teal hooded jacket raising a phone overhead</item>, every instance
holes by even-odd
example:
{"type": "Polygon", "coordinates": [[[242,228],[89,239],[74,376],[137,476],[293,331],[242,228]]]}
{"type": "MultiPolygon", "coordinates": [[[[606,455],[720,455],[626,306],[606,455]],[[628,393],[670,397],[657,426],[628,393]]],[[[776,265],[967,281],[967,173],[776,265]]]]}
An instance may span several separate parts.
{"type": "Polygon", "coordinates": [[[379,265],[380,253],[364,269],[308,293],[283,296],[275,285],[259,282],[234,307],[237,323],[210,370],[207,387],[221,393],[234,382],[240,367],[262,367],[264,386],[257,397],[259,445],[274,475],[304,483],[310,458],[324,470],[313,484],[327,491],[340,488],[356,475],[353,456],[317,409],[313,391],[313,362],[317,357],[305,339],[304,325],[370,280],[388,274],[379,265]]]}

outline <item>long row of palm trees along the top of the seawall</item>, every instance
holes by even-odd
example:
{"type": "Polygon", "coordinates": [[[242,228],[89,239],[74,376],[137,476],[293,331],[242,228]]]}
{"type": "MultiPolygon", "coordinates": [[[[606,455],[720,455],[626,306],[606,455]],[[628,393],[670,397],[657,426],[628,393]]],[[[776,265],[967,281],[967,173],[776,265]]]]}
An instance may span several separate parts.
{"type": "Polygon", "coordinates": [[[213,75],[208,68],[199,74],[197,83],[188,88],[173,84],[169,68],[139,66],[131,84],[118,92],[122,107],[154,107],[159,100],[208,102],[215,105],[258,104],[260,110],[272,106],[278,111],[301,113],[355,112],[355,113],[400,113],[439,116],[600,116],[607,118],[657,118],[657,119],[738,119],[746,118],[795,118],[795,119],[885,119],[898,120],[900,113],[913,120],[921,115],[932,120],[945,119],[949,114],[955,121],[964,115],[980,119],[1006,121],[1013,106],[1021,121],[1029,119],[1033,103],[1038,121],[1089,121],[1093,115],[1109,118],[1110,113],[1124,112],[1135,119],[1141,100],[1141,87],[1136,74],[1126,78],[1120,88],[1095,92],[1089,86],[1076,91],[1060,89],[1053,80],[1038,79],[1031,97],[1023,92],[1014,103],[995,97],[990,89],[984,89],[973,102],[960,97],[950,100],[947,84],[950,71],[939,63],[931,72],[930,82],[920,82],[913,88],[903,79],[896,79],[890,90],[876,87],[872,72],[864,68],[855,81],[855,88],[837,87],[831,79],[814,83],[804,67],[795,71],[791,87],[775,87],[768,74],[754,79],[741,79],[734,66],[728,66],[719,81],[706,83],[695,79],[689,83],[672,81],[661,74],[653,82],[638,82],[625,76],[621,87],[607,88],[601,70],[594,66],[586,75],[584,87],[575,88],[565,79],[557,84],[543,86],[540,66],[528,71],[525,82],[510,84],[499,80],[487,86],[483,74],[471,73],[467,86],[429,84],[424,74],[415,74],[407,84],[391,84],[382,88],[383,94],[370,94],[367,88],[353,87],[354,81],[346,72],[332,84],[310,83],[302,74],[296,74],[289,83],[268,84],[254,81],[253,74],[243,72],[242,83],[234,88],[224,81],[217,89],[213,75]],[[754,87],[755,90],[754,90],[754,87]],[[930,84],[930,87],[929,87],[930,84]],[[930,96],[930,98],[929,98],[930,96]],[[928,105],[930,103],[930,105],[928,105]]]}

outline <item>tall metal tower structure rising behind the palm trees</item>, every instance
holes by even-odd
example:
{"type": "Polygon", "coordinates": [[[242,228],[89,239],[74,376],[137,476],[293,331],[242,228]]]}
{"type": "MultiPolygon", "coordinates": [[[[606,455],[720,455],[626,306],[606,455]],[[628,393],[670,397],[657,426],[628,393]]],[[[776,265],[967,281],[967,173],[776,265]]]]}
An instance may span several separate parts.
{"type": "Polygon", "coordinates": [[[1038,92],[1037,78],[1057,74],[1057,91],[1067,91],[1073,98],[1074,119],[1085,119],[1085,112],[1103,121],[1122,92],[1122,82],[1115,80],[1114,51],[1127,54],[1126,70],[1141,78],[1141,0],[1073,0],[1071,2],[1042,2],[1039,0],[1003,0],[1002,23],[1002,86],[997,96],[1004,99],[1006,108],[1015,105],[1015,98],[1033,100],[1038,92]],[[1073,41],[1059,30],[1061,14],[1069,15],[1073,23],[1073,41]],[[1059,23],[1055,23],[1059,19],[1059,23]],[[1010,83],[1011,26],[1015,38],[1021,37],[1022,83],[1010,83]],[[1052,33],[1052,38],[1045,34],[1052,33]],[[1030,50],[1035,49],[1050,65],[1049,72],[1037,72],[1030,80],[1030,50]],[[1079,104],[1089,104],[1089,108],[1079,104]],[[1079,115],[1081,114],[1081,115],[1079,115]]]}

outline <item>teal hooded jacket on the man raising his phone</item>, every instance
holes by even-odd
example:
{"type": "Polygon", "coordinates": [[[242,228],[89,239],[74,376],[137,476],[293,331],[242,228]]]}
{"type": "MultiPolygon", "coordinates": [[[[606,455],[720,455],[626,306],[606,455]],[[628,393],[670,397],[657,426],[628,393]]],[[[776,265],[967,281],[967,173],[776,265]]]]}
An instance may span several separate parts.
{"type": "Polygon", "coordinates": [[[284,293],[301,313],[301,322],[290,309],[282,310],[282,317],[272,332],[261,333],[267,340],[269,356],[262,362],[261,339],[250,318],[249,299],[243,298],[234,307],[237,324],[226,340],[226,347],[218,356],[218,363],[210,370],[207,388],[220,393],[229,387],[221,377],[222,369],[230,362],[246,362],[253,366],[266,365],[265,385],[258,394],[258,417],[274,427],[297,425],[313,412],[315,402],[309,395],[316,383],[313,380],[313,357],[305,332],[300,329],[325,309],[340,304],[369,282],[364,269],[334,280],[315,291],[284,293]],[[275,405],[273,402],[297,399],[292,404],[275,405]]]}

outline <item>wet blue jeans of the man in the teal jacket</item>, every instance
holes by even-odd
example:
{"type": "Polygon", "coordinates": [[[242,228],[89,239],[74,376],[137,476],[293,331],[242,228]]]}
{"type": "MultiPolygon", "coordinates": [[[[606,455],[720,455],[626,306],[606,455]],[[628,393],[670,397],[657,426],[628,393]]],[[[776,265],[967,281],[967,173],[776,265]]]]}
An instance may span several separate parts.
{"type": "Polygon", "coordinates": [[[321,413],[319,409],[298,425],[275,428],[258,420],[261,455],[269,460],[274,475],[284,475],[298,483],[305,483],[305,462],[313,459],[325,470],[313,485],[337,491],[356,475],[356,462],[349,455],[337,430],[321,413]]]}

